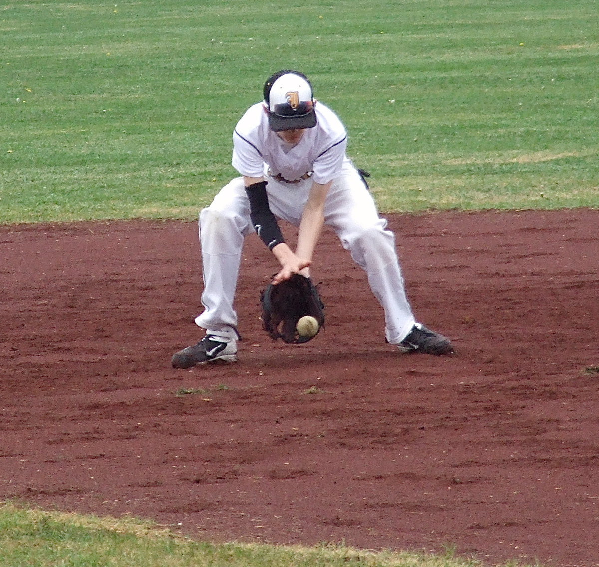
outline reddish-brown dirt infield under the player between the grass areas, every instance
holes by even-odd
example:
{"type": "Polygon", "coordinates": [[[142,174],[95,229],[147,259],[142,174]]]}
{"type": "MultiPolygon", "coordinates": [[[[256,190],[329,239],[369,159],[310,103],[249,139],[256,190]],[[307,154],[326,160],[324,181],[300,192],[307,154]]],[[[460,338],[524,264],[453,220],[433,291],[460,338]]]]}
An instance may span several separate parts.
{"type": "Polygon", "coordinates": [[[0,499],[199,538],[599,565],[599,210],[388,218],[453,357],[386,345],[325,232],[314,341],[261,331],[276,266],[252,237],[240,362],[175,371],[201,336],[195,223],[0,227],[0,499]]]}

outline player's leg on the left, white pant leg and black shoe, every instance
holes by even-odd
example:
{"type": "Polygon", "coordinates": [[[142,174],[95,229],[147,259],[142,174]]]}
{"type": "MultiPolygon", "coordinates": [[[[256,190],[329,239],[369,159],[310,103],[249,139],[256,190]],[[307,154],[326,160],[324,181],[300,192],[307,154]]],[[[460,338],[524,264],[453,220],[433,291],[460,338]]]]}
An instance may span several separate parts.
{"type": "Polygon", "coordinates": [[[237,360],[237,313],[233,308],[244,237],[252,232],[242,178],[235,178],[199,214],[204,311],[195,319],[206,329],[196,345],[174,354],[175,368],[237,360]]]}

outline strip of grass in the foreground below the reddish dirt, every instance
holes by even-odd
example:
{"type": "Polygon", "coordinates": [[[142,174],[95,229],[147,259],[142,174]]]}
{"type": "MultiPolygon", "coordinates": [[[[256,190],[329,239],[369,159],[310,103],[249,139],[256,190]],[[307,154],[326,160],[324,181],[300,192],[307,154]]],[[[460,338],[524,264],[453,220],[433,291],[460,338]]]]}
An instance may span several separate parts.
{"type": "MultiPolygon", "coordinates": [[[[194,541],[130,517],[81,516],[0,505],[0,567],[476,567],[476,560],[424,553],[194,541]]],[[[515,563],[506,563],[506,567],[515,563]]]]}

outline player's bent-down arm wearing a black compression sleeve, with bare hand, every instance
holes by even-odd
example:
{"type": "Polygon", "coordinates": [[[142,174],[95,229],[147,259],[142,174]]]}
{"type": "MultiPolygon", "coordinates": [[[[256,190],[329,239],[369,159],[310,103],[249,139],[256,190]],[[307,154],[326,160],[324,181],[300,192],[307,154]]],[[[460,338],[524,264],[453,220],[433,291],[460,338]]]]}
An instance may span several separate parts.
{"type": "Polygon", "coordinates": [[[262,242],[279,260],[281,269],[273,283],[286,280],[291,274],[298,273],[310,265],[310,261],[298,257],[285,243],[277,219],[268,206],[266,181],[263,177],[243,178],[247,197],[250,202],[250,219],[262,242]]]}

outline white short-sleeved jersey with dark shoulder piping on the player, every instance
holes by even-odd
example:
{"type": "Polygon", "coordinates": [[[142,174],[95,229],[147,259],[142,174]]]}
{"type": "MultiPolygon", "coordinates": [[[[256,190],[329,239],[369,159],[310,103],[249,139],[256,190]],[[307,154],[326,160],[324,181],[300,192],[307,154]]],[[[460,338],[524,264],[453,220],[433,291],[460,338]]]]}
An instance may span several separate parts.
{"type": "Polygon", "coordinates": [[[317,123],[307,128],[294,146],[286,144],[268,126],[264,105],[252,105],[233,133],[232,165],[246,177],[280,175],[288,181],[306,174],[316,183],[328,183],[341,174],[346,156],[347,134],[343,123],[322,102],[314,106],[317,123]]]}

